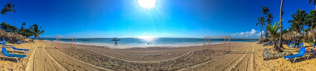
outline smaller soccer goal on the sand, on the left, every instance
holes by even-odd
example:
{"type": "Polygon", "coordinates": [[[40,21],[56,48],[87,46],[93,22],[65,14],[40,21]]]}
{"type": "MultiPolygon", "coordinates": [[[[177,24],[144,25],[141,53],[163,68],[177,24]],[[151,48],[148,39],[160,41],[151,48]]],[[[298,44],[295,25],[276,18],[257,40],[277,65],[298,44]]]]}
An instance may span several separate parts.
{"type": "Polygon", "coordinates": [[[74,37],[60,37],[60,36],[56,36],[56,49],[59,48],[76,48],[76,42],[77,42],[77,38],[74,37]],[[64,44],[60,44],[62,40],[62,43],[64,44]],[[71,42],[71,43],[70,43],[71,42]]]}

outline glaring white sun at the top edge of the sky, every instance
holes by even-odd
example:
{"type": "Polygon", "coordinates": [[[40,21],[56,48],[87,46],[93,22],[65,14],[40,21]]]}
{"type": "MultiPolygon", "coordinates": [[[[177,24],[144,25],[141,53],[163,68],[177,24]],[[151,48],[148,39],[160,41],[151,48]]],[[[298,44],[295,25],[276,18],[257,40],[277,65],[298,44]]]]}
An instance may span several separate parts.
{"type": "Polygon", "coordinates": [[[156,0],[138,0],[140,7],[143,8],[153,8],[155,6],[156,0]]]}

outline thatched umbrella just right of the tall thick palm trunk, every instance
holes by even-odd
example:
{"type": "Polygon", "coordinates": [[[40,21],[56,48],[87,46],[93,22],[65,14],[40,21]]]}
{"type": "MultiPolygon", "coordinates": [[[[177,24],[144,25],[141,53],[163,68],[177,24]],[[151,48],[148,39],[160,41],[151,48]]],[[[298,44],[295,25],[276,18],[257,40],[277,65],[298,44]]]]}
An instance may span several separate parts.
{"type": "Polygon", "coordinates": [[[283,40],[296,40],[299,41],[303,36],[300,33],[297,33],[295,31],[288,32],[282,35],[283,40]]]}

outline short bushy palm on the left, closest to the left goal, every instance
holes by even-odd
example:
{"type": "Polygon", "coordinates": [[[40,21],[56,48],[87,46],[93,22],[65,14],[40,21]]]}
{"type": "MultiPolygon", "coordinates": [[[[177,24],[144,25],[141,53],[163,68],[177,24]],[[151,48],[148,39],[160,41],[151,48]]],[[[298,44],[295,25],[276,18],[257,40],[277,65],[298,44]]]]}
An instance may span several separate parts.
{"type": "MultiPolygon", "coordinates": [[[[41,28],[42,26],[40,26],[41,28]]],[[[33,40],[36,38],[36,37],[39,37],[39,40],[40,40],[40,34],[41,33],[44,33],[44,30],[40,30],[40,28],[38,28],[38,25],[37,24],[33,24],[32,26],[30,26],[30,28],[28,29],[28,31],[31,33],[31,35],[34,36],[33,40]]],[[[33,42],[32,40],[32,42],[33,42]]]]}

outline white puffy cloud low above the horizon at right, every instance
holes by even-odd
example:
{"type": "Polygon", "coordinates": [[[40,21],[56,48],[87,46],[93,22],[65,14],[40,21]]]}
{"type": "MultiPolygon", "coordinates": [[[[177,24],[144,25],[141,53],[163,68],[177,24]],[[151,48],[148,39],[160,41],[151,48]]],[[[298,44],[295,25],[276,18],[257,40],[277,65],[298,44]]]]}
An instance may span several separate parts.
{"type": "MultiPolygon", "coordinates": [[[[264,31],[261,31],[262,34],[264,34],[264,31]]],[[[243,37],[243,38],[258,38],[260,37],[260,31],[258,30],[255,30],[255,29],[252,29],[251,31],[247,31],[247,32],[237,32],[237,33],[234,33],[234,34],[230,34],[230,36],[237,36],[237,37],[243,37]]]]}

